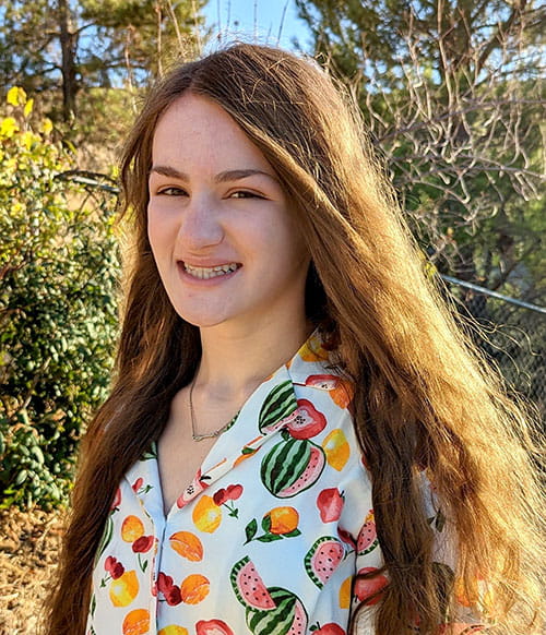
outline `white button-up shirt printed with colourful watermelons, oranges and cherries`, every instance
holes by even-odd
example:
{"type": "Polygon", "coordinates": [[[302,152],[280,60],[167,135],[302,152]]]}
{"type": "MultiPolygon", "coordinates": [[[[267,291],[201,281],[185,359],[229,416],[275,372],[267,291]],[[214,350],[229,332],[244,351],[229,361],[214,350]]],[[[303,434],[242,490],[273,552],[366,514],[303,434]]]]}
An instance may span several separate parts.
{"type": "MultiPolygon", "coordinates": [[[[382,560],[349,399],[313,334],[250,396],[166,517],[153,445],[112,502],[87,635],[345,635],[352,610],[387,584],[353,585],[382,560]]],[[[456,633],[479,630],[458,621],[456,633]]],[[[373,634],[371,615],[359,633],[373,634]]]]}

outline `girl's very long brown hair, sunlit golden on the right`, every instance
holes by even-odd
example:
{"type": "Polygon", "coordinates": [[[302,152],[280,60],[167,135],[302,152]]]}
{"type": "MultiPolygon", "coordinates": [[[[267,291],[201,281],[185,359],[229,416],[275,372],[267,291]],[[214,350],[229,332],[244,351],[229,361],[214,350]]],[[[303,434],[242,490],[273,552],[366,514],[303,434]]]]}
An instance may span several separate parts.
{"type": "Polygon", "coordinates": [[[431,634],[455,595],[434,563],[424,469],[453,532],[458,594],[472,602],[476,579],[486,579],[492,618],[511,634],[529,633],[537,622],[541,528],[530,424],[423,275],[403,215],[343,92],[311,61],[234,45],[162,81],[126,146],[123,208],[134,220],[136,259],[116,381],[83,447],[48,634],[84,633],[93,560],[115,490],[158,439],[170,400],[201,354],[198,330],[166,297],[146,236],[155,127],[185,91],[235,119],[294,203],[312,259],[308,313],[340,342],[340,363],[355,382],[355,427],[371,470],[390,578],[376,604],[378,634],[415,632],[416,615],[420,632],[431,634]]]}

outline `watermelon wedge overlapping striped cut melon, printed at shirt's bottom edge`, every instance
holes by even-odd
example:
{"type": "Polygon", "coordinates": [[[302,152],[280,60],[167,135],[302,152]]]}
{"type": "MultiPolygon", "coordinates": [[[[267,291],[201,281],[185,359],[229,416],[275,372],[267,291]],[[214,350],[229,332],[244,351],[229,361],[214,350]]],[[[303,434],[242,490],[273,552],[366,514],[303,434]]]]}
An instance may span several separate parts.
{"type": "Polygon", "coordinates": [[[248,555],[234,565],[230,579],[253,635],[305,635],[308,618],[299,598],[281,587],[266,588],[248,555]]]}

